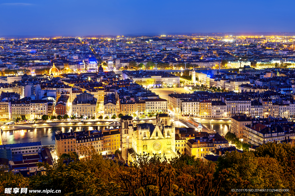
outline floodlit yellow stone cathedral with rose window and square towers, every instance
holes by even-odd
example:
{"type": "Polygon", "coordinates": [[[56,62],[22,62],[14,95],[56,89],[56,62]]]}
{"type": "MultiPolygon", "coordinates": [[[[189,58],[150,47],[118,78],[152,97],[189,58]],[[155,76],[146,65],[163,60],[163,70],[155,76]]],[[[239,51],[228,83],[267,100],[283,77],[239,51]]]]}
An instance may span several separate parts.
{"type": "Polygon", "coordinates": [[[133,162],[137,155],[165,154],[167,159],[177,156],[175,150],[175,127],[168,114],[158,114],[156,124],[141,123],[136,126],[132,116],[121,118],[121,156],[126,163],[133,162]]]}

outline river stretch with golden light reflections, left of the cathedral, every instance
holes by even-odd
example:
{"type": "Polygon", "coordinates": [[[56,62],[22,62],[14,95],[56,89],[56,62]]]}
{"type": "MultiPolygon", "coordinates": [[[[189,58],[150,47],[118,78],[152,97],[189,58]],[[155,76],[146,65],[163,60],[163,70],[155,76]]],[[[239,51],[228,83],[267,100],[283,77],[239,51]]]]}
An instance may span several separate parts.
{"type": "MultiPolygon", "coordinates": [[[[99,129],[112,129],[118,126],[100,126],[99,129]]],[[[52,128],[32,128],[32,129],[22,129],[22,130],[10,130],[3,131],[2,142],[3,144],[15,144],[15,143],[26,143],[26,142],[39,142],[42,145],[52,145],[55,144],[54,135],[57,131],[63,131],[64,133],[70,132],[71,129],[74,131],[82,131],[83,128],[86,130],[97,129],[96,126],[72,126],[72,127],[52,127],[52,128]]]]}

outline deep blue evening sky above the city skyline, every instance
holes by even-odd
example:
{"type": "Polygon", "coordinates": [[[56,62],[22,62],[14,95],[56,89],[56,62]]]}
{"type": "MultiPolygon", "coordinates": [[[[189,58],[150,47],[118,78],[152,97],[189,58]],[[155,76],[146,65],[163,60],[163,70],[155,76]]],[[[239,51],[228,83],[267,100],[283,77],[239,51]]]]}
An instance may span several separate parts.
{"type": "Polygon", "coordinates": [[[295,32],[295,1],[1,0],[0,35],[295,32]]]}

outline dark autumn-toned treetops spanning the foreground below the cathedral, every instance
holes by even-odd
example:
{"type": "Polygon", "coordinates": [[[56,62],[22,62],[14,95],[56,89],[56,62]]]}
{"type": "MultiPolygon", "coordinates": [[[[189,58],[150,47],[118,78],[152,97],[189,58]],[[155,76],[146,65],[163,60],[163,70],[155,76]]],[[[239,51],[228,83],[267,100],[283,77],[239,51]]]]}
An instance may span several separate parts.
{"type": "Polygon", "coordinates": [[[149,159],[144,154],[132,166],[105,160],[94,149],[83,151],[86,158],[81,161],[70,153],[63,154],[53,168],[39,163],[46,168],[45,175],[23,177],[1,172],[1,194],[6,187],[27,187],[62,191],[55,195],[295,195],[295,148],[287,144],[267,143],[255,152],[226,153],[217,162],[194,160],[187,155],[172,160],[153,155],[149,159]],[[232,192],[232,189],[289,189],[289,192],[232,192]]]}

